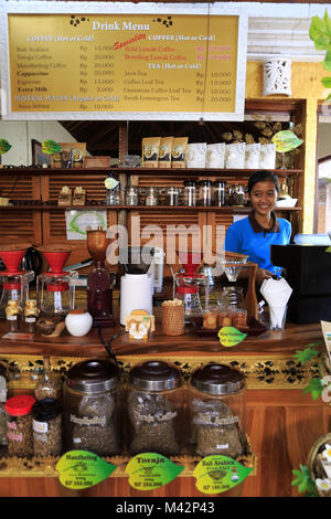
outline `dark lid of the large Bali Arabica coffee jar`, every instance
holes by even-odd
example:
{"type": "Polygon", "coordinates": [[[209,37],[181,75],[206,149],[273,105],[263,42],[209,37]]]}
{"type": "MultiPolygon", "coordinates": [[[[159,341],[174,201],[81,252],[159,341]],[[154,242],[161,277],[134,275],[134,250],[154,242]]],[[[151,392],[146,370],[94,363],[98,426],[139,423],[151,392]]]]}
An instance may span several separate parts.
{"type": "Polygon", "coordinates": [[[244,388],[245,378],[229,366],[207,364],[192,373],[191,384],[204,393],[229,394],[244,388]]]}

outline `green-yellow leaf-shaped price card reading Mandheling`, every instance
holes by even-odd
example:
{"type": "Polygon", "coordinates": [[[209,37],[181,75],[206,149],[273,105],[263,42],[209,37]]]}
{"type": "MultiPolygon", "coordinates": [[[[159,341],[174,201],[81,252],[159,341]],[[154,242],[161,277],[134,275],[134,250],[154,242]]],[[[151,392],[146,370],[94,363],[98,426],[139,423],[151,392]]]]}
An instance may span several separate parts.
{"type": "Polygon", "coordinates": [[[93,487],[117,468],[88,451],[68,451],[56,464],[60,483],[72,490],[93,487]]]}

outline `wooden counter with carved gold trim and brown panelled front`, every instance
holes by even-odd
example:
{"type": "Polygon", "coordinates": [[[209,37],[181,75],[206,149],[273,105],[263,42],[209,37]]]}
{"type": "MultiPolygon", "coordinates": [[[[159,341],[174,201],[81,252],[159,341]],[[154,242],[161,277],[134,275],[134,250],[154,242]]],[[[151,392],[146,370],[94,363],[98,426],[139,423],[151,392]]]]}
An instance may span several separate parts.
{"type": "MultiPolygon", "coordinates": [[[[122,327],[104,329],[109,340],[122,327]]],[[[63,332],[58,338],[3,338],[4,322],[0,322],[0,360],[13,366],[20,373],[11,388],[35,384],[35,362],[50,354],[52,368],[65,370],[82,358],[107,357],[97,330],[83,338],[63,332]],[[34,380],[33,380],[34,374],[34,380]],[[30,377],[31,375],[31,377],[30,377]]],[[[192,329],[180,337],[164,337],[156,331],[150,341],[129,342],[127,333],[116,338],[113,350],[125,370],[143,358],[162,358],[177,362],[183,371],[209,361],[233,362],[247,375],[246,433],[257,457],[257,470],[244,483],[243,497],[299,496],[291,487],[292,469],[307,464],[311,445],[330,431],[330,405],[321,399],[313,401],[303,394],[317,366],[301,366],[292,356],[311,345],[322,345],[319,324],[290,325],[281,332],[266,331],[247,337],[233,348],[224,348],[217,338],[199,337],[192,329]]],[[[1,469],[0,469],[1,473],[1,469]]],[[[152,492],[138,492],[126,477],[109,477],[86,490],[73,491],[63,487],[56,477],[0,477],[0,497],[31,496],[117,496],[117,497],[203,497],[195,488],[193,477],[178,477],[152,492]]],[[[207,498],[207,496],[205,496],[207,498]]]]}

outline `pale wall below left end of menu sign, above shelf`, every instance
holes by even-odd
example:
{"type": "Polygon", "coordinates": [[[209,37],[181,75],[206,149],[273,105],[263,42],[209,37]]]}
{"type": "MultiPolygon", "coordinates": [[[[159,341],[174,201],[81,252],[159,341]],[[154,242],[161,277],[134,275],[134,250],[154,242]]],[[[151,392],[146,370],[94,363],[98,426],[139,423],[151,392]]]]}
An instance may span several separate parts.
{"type": "Polygon", "coordinates": [[[6,139],[11,149],[1,155],[2,165],[30,166],[32,163],[31,139],[42,142],[75,142],[73,136],[57,121],[52,120],[1,120],[0,139],[6,139]]]}

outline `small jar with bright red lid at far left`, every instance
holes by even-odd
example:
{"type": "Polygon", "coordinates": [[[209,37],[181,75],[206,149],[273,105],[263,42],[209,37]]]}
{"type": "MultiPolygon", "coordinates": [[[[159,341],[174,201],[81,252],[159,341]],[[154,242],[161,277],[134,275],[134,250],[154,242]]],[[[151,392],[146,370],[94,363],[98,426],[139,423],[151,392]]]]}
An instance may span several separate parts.
{"type": "Polygon", "coordinates": [[[32,406],[34,402],[31,395],[12,396],[6,402],[9,456],[33,456],[32,406]]]}

